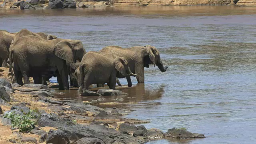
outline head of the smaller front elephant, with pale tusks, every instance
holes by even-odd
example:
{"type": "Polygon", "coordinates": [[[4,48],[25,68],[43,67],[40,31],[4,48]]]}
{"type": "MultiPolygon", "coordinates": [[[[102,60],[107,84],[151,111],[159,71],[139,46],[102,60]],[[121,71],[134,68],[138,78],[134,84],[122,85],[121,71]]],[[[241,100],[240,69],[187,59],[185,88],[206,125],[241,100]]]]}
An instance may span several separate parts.
{"type": "Polygon", "coordinates": [[[125,58],[117,56],[114,59],[114,65],[116,70],[122,74],[123,76],[136,76],[137,74],[133,74],[130,71],[130,68],[128,66],[128,62],[125,58]]]}

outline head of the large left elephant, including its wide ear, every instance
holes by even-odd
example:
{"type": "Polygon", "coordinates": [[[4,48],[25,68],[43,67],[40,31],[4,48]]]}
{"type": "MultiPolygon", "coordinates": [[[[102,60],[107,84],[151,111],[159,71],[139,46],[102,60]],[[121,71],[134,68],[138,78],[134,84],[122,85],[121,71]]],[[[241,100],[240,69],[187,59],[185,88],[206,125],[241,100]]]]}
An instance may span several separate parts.
{"type": "Polygon", "coordinates": [[[54,46],[54,54],[67,62],[81,61],[86,51],[80,40],[62,40],[54,46]]]}

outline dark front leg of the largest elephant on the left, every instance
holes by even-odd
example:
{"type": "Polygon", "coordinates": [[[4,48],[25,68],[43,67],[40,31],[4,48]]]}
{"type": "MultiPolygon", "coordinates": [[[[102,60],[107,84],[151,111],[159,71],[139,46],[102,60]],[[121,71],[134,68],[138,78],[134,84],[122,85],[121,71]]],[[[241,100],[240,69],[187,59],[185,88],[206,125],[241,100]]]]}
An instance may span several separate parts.
{"type": "Polygon", "coordinates": [[[66,65],[66,61],[60,60],[61,64],[57,65],[57,69],[59,72],[58,81],[59,81],[59,90],[68,90],[68,69],[66,65]]]}

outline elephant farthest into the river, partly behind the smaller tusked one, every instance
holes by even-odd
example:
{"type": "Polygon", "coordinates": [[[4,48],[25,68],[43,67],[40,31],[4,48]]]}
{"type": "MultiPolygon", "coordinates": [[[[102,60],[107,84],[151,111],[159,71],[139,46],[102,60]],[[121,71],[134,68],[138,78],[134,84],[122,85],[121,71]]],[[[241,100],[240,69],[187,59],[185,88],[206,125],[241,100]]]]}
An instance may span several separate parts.
{"type": "MultiPolygon", "coordinates": [[[[150,45],[134,46],[131,48],[107,46],[102,48],[99,53],[124,57],[128,61],[131,72],[137,74],[138,83],[144,83],[144,67],[149,68],[149,64],[155,64],[161,72],[165,72],[168,68],[168,66],[164,67],[159,51],[150,45]]],[[[130,81],[130,76],[126,76],[126,79],[130,81]]],[[[128,84],[128,86],[130,87],[131,85],[128,84]]]]}

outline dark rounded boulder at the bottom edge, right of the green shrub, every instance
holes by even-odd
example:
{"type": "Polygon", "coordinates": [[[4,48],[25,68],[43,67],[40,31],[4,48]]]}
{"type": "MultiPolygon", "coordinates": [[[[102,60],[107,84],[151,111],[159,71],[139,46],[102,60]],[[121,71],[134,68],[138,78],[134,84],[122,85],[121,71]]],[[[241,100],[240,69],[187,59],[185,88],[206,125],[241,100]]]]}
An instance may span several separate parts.
{"type": "Polygon", "coordinates": [[[69,138],[66,133],[61,130],[50,130],[46,138],[46,144],[69,144],[69,138]]]}

